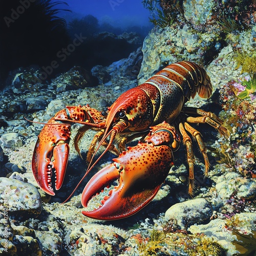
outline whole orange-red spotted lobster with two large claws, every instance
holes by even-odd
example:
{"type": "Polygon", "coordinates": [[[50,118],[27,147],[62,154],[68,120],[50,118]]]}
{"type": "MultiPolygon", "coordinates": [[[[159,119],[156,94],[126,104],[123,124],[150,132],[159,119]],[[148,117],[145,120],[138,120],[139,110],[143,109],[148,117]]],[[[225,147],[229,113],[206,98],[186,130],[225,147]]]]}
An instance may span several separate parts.
{"type": "Polygon", "coordinates": [[[203,155],[205,176],[210,164],[202,136],[190,124],[207,123],[222,136],[229,136],[223,121],[214,113],[185,106],[196,94],[202,98],[211,96],[210,78],[196,63],[181,61],[122,93],[108,111],[100,112],[88,104],[67,106],[52,117],[38,135],[32,158],[35,180],[42,190],[55,195],[52,172],[55,172],[58,190],[68,163],[71,124],[79,123],[82,126],[74,138],[74,146],[80,156],[78,145],[84,133],[89,129],[97,132],[88,150],[89,166],[81,181],[106,152],[118,156],[84,187],[82,205],[87,208],[90,200],[112,180],[118,179],[118,185],[104,196],[98,208],[84,210],[83,215],[101,220],[119,219],[135,214],[151,202],[174,165],[173,152],[178,150],[181,139],[186,148],[188,194],[192,195],[195,159],[190,136],[196,139],[203,155]],[[139,143],[126,150],[126,144],[135,138],[140,138],[139,143]],[[93,162],[101,146],[105,149],[93,162]]]}

